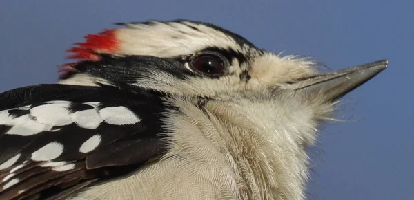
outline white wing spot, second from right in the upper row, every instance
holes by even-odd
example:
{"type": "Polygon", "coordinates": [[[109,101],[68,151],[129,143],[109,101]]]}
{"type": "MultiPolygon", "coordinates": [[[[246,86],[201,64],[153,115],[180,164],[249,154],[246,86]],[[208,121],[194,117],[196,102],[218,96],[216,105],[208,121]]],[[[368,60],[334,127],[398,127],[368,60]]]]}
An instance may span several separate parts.
{"type": "Polygon", "coordinates": [[[95,109],[77,111],[70,114],[70,119],[83,129],[97,129],[103,122],[95,109]]]}

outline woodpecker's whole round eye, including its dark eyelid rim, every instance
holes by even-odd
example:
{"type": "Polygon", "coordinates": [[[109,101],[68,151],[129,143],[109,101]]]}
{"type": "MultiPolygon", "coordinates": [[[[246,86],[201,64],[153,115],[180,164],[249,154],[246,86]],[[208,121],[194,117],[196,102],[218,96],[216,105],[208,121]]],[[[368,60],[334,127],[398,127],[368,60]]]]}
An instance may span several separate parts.
{"type": "Polygon", "coordinates": [[[191,66],[197,71],[208,75],[224,74],[225,62],[220,56],[201,54],[191,61],[191,66]]]}

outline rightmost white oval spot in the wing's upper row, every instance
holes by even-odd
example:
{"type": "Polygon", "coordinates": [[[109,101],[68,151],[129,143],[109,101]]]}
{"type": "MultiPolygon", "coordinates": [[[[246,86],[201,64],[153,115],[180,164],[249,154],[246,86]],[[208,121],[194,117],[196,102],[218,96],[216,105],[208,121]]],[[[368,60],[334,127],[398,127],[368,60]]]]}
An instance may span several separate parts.
{"type": "Polygon", "coordinates": [[[126,107],[106,107],[99,111],[99,115],[106,123],[114,125],[137,124],[141,121],[126,107]]]}

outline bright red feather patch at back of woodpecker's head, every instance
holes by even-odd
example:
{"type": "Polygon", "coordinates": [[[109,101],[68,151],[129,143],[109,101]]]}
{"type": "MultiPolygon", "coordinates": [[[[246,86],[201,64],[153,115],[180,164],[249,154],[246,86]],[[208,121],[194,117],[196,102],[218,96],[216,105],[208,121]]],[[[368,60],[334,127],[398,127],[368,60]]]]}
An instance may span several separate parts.
{"type": "MultiPolygon", "coordinates": [[[[89,34],[84,36],[84,43],[75,43],[75,47],[66,52],[72,53],[68,59],[98,61],[101,59],[99,54],[115,54],[117,52],[117,38],[115,30],[105,30],[99,34],[89,34]]],[[[76,71],[72,66],[77,63],[67,63],[59,69],[59,77],[63,78],[66,74],[76,71]]]]}

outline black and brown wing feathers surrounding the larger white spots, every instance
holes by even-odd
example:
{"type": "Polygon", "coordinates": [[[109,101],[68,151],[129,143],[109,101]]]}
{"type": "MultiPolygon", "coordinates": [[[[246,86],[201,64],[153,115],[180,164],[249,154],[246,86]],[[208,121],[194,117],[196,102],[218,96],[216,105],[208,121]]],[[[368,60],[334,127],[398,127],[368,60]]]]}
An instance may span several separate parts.
{"type": "Polygon", "coordinates": [[[0,118],[0,164],[19,155],[11,166],[0,170],[0,199],[60,199],[95,181],[135,170],[166,151],[159,135],[164,132],[160,118],[161,113],[172,108],[155,92],[107,86],[33,85],[1,93],[0,111],[8,110],[10,119],[15,119],[30,115],[32,108],[50,101],[70,102],[69,113],[125,107],[141,120],[121,125],[103,121],[96,129],[73,122],[37,134],[10,135],[7,133],[13,125],[0,118]],[[94,108],[86,102],[99,105],[94,108]],[[99,146],[81,153],[79,146],[97,134],[101,137],[99,146]],[[63,144],[59,157],[47,161],[31,159],[34,151],[50,142],[63,144]],[[64,170],[57,169],[62,166],[64,170]]]}

